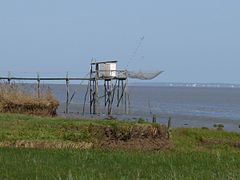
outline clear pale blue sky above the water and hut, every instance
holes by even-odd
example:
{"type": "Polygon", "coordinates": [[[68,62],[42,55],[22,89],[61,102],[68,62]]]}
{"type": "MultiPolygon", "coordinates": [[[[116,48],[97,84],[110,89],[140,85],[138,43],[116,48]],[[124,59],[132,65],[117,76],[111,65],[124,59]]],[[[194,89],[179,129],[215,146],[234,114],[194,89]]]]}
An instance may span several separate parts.
{"type": "Polygon", "coordinates": [[[150,82],[240,83],[239,7],[239,0],[2,0],[0,76],[85,76],[95,58],[165,71],[150,82]]]}

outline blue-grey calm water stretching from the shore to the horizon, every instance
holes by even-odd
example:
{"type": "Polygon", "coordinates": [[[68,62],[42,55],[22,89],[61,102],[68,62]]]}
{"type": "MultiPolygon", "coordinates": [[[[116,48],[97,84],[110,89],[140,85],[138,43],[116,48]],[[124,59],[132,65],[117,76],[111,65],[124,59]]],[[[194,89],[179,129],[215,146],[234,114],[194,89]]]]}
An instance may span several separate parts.
{"type": "MultiPolygon", "coordinates": [[[[64,114],[66,89],[64,85],[48,85],[61,102],[58,109],[64,114]]],[[[70,114],[80,116],[86,86],[71,85],[75,92],[70,105],[70,114]]],[[[151,120],[156,114],[159,122],[166,123],[172,117],[173,126],[213,127],[222,123],[225,129],[239,131],[240,88],[217,87],[169,87],[169,86],[129,86],[130,112],[123,115],[124,108],[114,106],[114,115],[124,119],[142,117],[151,120]]],[[[102,106],[103,107],[103,106],[102,106]]],[[[89,110],[87,102],[87,110],[89,110]]],[[[104,117],[103,113],[100,116],[104,117]]]]}

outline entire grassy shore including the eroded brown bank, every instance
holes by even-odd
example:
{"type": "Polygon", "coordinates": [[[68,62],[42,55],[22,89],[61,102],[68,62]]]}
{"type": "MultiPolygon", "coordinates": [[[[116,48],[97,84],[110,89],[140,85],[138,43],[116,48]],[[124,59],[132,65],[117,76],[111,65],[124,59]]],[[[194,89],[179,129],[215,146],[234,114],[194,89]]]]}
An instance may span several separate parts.
{"type": "Polygon", "coordinates": [[[0,179],[237,179],[240,134],[0,114],[0,179]],[[21,167],[21,168],[19,168],[21,167]]]}

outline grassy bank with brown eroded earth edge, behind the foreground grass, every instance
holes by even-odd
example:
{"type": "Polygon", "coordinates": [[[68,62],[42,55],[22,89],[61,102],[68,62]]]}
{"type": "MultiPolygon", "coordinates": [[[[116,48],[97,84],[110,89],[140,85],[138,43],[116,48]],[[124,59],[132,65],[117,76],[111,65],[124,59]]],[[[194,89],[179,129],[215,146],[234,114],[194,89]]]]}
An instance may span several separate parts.
{"type": "Polygon", "coordinates": [[[77,120],[0,115],[0,147],[160,149],[167,128],[116,120],[77,120]]]}

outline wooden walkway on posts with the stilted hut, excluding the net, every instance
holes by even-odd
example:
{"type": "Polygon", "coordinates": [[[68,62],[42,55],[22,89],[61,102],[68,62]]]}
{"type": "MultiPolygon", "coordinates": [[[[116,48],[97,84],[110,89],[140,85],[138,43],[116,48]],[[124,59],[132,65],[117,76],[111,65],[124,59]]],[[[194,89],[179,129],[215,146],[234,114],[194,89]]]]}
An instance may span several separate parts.
{"type": "MultiPolygon", "coordinates": [[[[100,101],[104,99],[104,106],[107,108],[107,114],[110,116],[113,113],[113,105],[116,107],[120,104],[125,106],[125,113],[128,113],[129,108],[129,95],[127,92],[128,76],[126,70],[116,69],[117,61],[102,61],[91,62],[91,68],[89,77],[40,77],[38,74],[36,77],[15,77],[10,73],[6,77],[1,77],[0,80],[6,81],[11,84],[14,81],[36,81],[37,83],[37,95],[40,97],[40,88],[42,81],[65,81],[66,83],[66,105],[65,113],[69,113],[70,105],[70,81],[88,81],[87,91],[84,97],[83,115],[85,114],[85,106],[87,103],[87,96],[89,95],[89,112],[90,114],[100,114],[100,101]],[[99,95],[99,81],[103,81],[103,95],[99,95]]],[[[104,113],[105,114],[105,113],[104,113]]]]}

